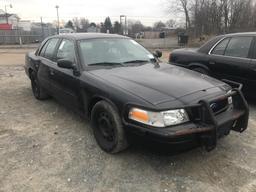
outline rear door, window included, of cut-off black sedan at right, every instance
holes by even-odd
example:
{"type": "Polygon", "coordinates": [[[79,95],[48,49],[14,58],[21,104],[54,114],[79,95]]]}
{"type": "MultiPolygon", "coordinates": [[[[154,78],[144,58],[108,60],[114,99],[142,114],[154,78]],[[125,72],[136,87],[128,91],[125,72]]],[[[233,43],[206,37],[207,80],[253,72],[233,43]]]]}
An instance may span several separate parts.
{"type": "Polygon", "coordinates": [[[218,78],[246,83],[251,67],[251,36],[228,37],[210,52],[209,67],[218,78]]]}

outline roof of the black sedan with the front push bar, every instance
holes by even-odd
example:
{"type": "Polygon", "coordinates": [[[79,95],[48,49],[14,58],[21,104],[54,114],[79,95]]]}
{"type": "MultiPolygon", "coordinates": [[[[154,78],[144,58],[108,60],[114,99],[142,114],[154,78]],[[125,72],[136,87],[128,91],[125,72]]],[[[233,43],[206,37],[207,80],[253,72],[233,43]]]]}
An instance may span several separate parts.
{"type": "MultiPolygon", "coordinates": [[[[55,37],[59,37],[56,35],[55,37]]],[[[107,33],[70,33],[61,35],[64,38],[70,38],[74,40],[84,40],[84,39],[101,39],[101,38],[128,38],[122,35],[107,34],[107,33]]]]}

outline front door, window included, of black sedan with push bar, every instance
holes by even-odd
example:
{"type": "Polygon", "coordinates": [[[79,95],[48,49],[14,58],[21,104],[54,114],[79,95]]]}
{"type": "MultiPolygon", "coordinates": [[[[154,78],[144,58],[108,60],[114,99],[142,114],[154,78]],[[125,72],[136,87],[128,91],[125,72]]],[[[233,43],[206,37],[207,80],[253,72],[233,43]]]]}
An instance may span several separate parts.
{"type": "Polygon", "coordinates": [[[57,65],[59,59],[72,61],[78,69],[78,59],[76,56],[75,42],[69,39],[62,39],[59,44],[55,62],[50,68],[50,82],[54,91],[54,96],[66,106],[79,109],[79,74],[73,69],[60,68],[57,65]]]}

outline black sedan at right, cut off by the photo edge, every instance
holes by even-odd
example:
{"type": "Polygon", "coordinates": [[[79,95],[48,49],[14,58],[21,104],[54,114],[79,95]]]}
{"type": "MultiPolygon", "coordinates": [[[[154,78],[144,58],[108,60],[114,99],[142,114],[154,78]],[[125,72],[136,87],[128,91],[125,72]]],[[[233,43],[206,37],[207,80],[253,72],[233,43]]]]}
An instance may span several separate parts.
{"type": "Polygon", "coordinates": [[[218,79],[256,86],[256,33],[217,36],[198,49],[177,49],[169,62],[218,79]]]}

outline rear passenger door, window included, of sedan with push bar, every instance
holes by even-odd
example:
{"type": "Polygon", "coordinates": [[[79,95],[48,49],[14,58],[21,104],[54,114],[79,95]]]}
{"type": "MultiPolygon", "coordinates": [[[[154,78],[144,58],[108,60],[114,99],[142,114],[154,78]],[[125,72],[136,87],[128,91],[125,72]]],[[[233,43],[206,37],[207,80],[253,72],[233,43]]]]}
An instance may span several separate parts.
{"type": "Polygon", "coordinates": [[[46,89],[48,92],[52,92],[50,85],[50,66],[53,63],[53,55],[54,51],[59,42],[58,38],[49,39],[41,48],[38,53],[39,60],[37,61],[37,65],[40,65],[37,71],[37,78],[39,80],[40,85],[46,89]]]}

